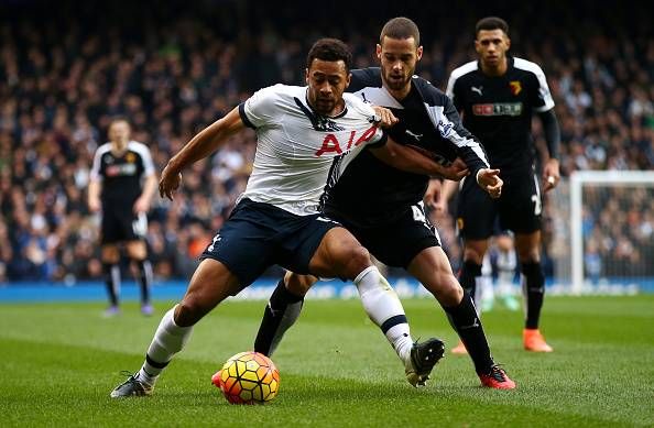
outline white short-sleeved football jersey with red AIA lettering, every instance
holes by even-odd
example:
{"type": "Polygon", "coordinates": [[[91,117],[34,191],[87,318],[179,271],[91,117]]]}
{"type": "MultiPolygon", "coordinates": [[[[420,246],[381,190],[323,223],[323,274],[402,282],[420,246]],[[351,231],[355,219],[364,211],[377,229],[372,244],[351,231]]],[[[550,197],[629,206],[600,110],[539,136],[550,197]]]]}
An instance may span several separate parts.
{"type": "Polygon", "coordinates": [[[334,118],[316,113],[306,96],[307,87],[275,85],[239,106],[241,120],[257,131],[258,141],[240,198],[298,216],[315,213],[325,186],[338,180],[366,145],[385,143],[374,110],[357,96],[344,94],[346,108],[334,118]]]}

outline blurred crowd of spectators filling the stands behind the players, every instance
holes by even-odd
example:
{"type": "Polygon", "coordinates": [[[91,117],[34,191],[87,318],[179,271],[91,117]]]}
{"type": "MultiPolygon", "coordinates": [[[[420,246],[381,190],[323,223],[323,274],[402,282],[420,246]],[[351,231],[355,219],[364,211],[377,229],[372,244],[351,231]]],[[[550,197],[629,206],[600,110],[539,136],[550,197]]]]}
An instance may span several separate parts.
{"type": "MultiPolygon", "coordinates": [[[[418,74],[440,88],[451,69],[475,58],[475,22],[501,15],[511,25],[511,52],[539,64],[548,78],[564,177],[578,169],[653,168],[651,6],[632,14],[617,2],[591,1],[500,1],[494,9],[450,2],[447,11],[439,2],[406,1],[402,9],[353,3],[336,2],[323,13],[292,2],[3,2],[0,282],[100,277],[99,218],[89,215],[86,188],[112,117],[132,122],[132,139],[150,146],[161,171],[252,91],[303,85],[305,55],[319,36],[346,41],[357,67],[377,65],[379,31],[394,15],[418,23],[425,47],[418,74]]],[[[534,136],[544,147],[537,120],[534,136]]],[[[254,133],[243,132],[185,172],[173,202],[155,197],[148,242],[157,278],[193,272],[244,188],[254,150],[254,133]]],[[[601,209],[585,213],[587,267],[597,262],[597,275],[608,274],[602,257],[622,252],[625,263],[642,266],[637,272],[653,274],[643,254],[630,251],[637,240],[652,246],[652,198],[644,190],[611,191],[618,190],[596,191],[601,209]]],[[[549,227],[567,221],[557,220],[556,207],[546,213],[549,227]]],[[[434,220],[456,267],[453,220],[434,220]]]]}

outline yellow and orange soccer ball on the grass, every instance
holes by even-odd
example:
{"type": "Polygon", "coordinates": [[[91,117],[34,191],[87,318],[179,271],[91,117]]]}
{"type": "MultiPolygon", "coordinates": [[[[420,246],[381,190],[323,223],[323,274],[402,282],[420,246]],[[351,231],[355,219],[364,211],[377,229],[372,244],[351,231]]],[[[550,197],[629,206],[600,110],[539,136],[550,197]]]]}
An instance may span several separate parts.
{"type": "Polygon", "coordinates": [[[272,400],[280,389],[280,372],[259,352],[237,353],[214,376],[211,383],[231,404],[262,404],[272,400]]]}

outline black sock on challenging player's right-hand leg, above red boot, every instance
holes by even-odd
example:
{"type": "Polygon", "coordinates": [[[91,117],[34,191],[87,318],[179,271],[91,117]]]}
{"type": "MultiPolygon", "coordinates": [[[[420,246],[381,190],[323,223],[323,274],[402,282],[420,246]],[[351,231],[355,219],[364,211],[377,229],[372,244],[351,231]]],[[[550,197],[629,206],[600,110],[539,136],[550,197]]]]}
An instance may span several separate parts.
{"type": "Polygon", "coordinates": [[[449,322],[466,345],[477,373],[488,373],[493,365],[493,359],[483,332],[483,326],[468,292],[464,292],[464,298],[457,306],[444,307],[444,309],[447,312],[449,322]]]}

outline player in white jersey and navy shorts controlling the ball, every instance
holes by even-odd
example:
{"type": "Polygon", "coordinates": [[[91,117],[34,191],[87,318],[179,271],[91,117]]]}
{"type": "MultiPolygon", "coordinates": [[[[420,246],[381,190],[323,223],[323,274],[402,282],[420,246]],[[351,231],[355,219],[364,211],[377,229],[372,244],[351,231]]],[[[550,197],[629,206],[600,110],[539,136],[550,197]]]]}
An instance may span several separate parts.
{"type": "Polygon", "coordinates": [[[111,397],[152,394],[156,378],[188,341],[193,326],[273,264],[353,281],[366,311],[404,363],[408,382],[414,386],[425,383],[443,356],[443,342],[413,342],[402,304],[368,251],[318,211],[326,184],[337,180],[364,146],[379,145],[373,152],[399,168],[423,174],[440,171],[417,152],[386,142],[372,107],[344,95],[350,64],[351,54],[342,42],[319,40],[307,56],[307,87],[275,85],[259,90],[171,158],[160,193],[172,199],[185,166],[207,157],[246,127],[257,131],[254,168],[244,193],[203,253],[184,298],[164,315],[142,367],[118,385],[111,397]]]}

